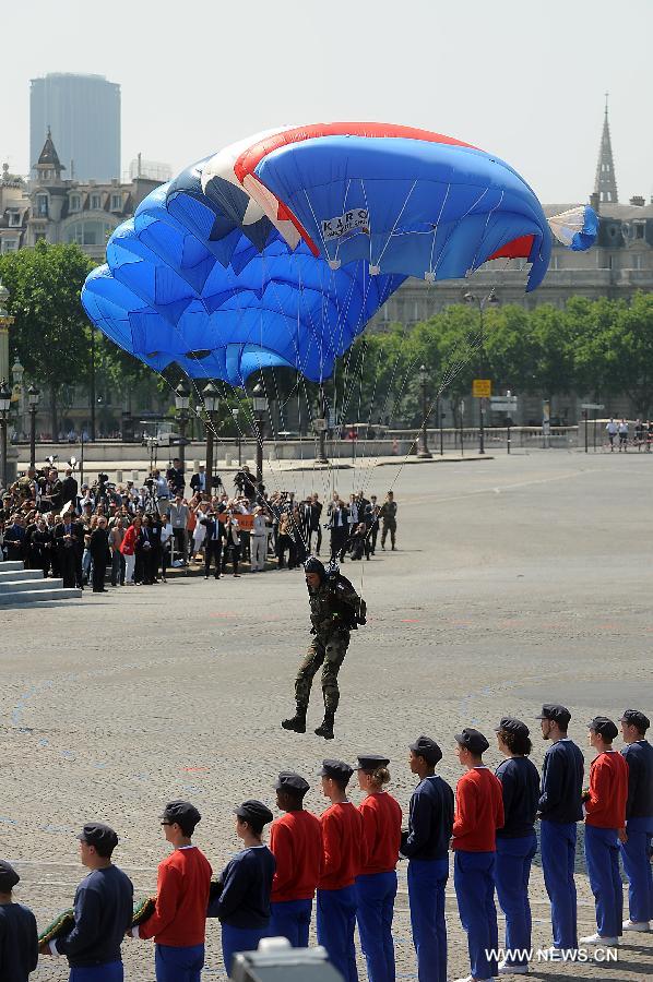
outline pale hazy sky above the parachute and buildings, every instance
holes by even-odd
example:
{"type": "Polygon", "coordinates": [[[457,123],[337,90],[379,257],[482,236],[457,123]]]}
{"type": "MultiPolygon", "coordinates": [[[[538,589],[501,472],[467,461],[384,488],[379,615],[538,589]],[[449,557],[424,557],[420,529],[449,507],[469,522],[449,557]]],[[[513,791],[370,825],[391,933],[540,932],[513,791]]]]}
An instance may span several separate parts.
{"type": "MultiPolygon", "coordinates": [[[[653,193],[653,2],[3,0],[0,163],[26,173],[29,79],[122,92],[122,167],[177,172],[280,124],[376,120],[502,157],[544,203],[593,190],[605,97],[619,200],[653,193]]],[[[56,142],[56,134],[55,142],[56,142]]]]}

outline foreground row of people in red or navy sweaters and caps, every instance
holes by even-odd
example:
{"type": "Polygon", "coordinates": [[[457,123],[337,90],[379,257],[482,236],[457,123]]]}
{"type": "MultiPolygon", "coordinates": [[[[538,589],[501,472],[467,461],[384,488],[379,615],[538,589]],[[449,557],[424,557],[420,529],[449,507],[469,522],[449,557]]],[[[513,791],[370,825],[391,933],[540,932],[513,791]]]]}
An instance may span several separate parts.
{"type": "MultiPolygon", "coordinates": [[[[357,979],[356,922],[368,978],[371,982],[394,980],[392,917],[401,850],[409,860],[408,897],[420,982],[446,982],[444,887],[451,846],[455,894],[468,941],[467,982],[490,979],[497,972],[525,973],[523,951],[531,947],[529,876],[537,848],[535,819],[541,818],[553,951],[573,950],[579,943],[575,835],[583,813],[597,932],[582,943],[613,945],[622,930],[648,931],[653,920],[649,720],[638,710],[626,710],[620,720],[626,743],[621,754],[612,746],[618,734],[615,723],[605,717],[591,721],[589,740],[597,756],[590,768],[589,788],[583,790],[583,756],[567,735],[570,718],[562,706],[543,707],[538,719],[550,746],[542,779],[529,759],[531,741],[525,723],[501,719],[496,732],[506,761],[496,775],[483,764],[489,747],[486,738],[471,728],[462,730],[455,742],[465,774],[456,786],[455,809],[451,788],[435,774],[441,751],[434,740],[420,736],[409,749],[411,770],[419,782],[403,833],[400,805],[383,790],[389,781],[387,757],[358,758],[358,783],[366,793],[359,807],[347,800],[354,768],[325,761],[322,791],[331,804],[319,818],[304,809],[309,782],[284,771],[276,782],[282,816],[273,822],[262,802],[244,802],[236,810],[236,831],[245,848],[214,884],[209,862],[191,841],[199,812],[188,802],[171,802],[162,825],[174,851],[159,865],[156,908],[147,921],[128,933],[154,938],[157,982],[178,982],[180,978],[199,982],[207,908],[209,915],[222,922],[228,970],[236,951],[254,948],[265,936],[283,935],[295,946],[306,946],[317,891],[318,941],[345,980],[357,979]],[[270,822],[268,848],[262,835],[270,822]],[[630,920],[624,924],[619,842],[629,881],[630,920]],[[487,955],[498,948],[495,889],[506,914],[507,957],[500,965],[487,955]]],[[[128,914],[131,923],[131,883],[111,864],[118,841],[111,829],[85,826],[80,838],[82,862],[92,872],[75,897],[75,924],[69,935],[44,947],[43,954],[67,955],[71,982],[119,982],[120,942],[128,914]]],[[[26,938],[35,937],[36,929],[27,925],[34,920],[29,921],[28,912],[22,915],[26,909],[17,910],[20,906],[11,903],[13,877],[7,864],[0,867],[0,978],[25,982],[35,963],[26,938]],[[12,937],[13,943],[3,942],[12,937]],[[16,938],[22,938],[19,946],[16,938]],[[15,954],[19,948],[24,950],[22,961],[15,954]]]]}

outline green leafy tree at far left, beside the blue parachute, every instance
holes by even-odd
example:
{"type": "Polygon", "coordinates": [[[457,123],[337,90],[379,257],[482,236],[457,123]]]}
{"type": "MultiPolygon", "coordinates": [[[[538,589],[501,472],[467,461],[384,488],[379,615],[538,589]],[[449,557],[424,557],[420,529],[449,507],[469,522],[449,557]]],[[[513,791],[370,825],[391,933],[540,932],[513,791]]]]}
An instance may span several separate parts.
{"type": "Polygon", "coordinates": [[[62,386],[88,378],[90,330],[80,292],[93,266],[79,246],[45,241],[0,256],[0,278],[15,319],[12,348],[27,378],[49,388],[54,439],[62,386]]]}

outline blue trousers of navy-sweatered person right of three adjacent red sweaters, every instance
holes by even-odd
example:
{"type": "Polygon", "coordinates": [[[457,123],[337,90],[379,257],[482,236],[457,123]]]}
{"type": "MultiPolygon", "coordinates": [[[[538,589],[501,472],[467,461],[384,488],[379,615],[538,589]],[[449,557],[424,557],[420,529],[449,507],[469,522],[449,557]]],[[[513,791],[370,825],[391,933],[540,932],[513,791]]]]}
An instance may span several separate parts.
{"type": "Polygon", "coordinates": [[[444,887],[449,860],[411,860],[408,901],[419,982],[447,982],[444,887]]]}

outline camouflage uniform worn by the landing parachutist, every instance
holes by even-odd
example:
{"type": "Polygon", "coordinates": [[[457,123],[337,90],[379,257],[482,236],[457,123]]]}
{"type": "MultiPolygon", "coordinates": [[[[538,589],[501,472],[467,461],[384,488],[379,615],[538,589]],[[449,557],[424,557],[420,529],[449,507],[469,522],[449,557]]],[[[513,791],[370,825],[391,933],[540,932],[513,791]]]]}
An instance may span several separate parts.
{"type": "Polygon", "coordinates": [[[297,708],[306,712],[313,678],[322,667],[324,708],[335,712],[340,702],[337,673],[349,646],[347,608],[355,607],[358,595],[346,584],[336,583],[333,586],[322,583],[314,592],[309,591],[309,600],[314,638],[308,646],[295,680],[297,708]]]}

